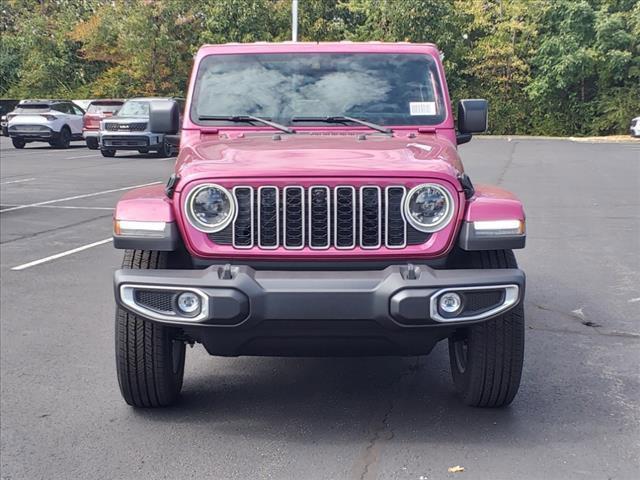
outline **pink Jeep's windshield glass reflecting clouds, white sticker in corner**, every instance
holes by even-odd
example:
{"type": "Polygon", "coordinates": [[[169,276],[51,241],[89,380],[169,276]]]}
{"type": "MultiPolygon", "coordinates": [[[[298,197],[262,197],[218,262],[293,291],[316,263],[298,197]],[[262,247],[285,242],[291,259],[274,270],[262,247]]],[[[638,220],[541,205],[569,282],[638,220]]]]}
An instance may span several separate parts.
{"type": "MultiPolygon", "coordinates": [[[[347,115],[380,125],[435,125],[446,117],[441,92],[428,55],[210,55],[198,70],[191,119],[232,125],[199,117],[255,115],[290,125],[293,117],[347,115]]],[[[322,125],[296,123],[305,124],[322,125]]]]}

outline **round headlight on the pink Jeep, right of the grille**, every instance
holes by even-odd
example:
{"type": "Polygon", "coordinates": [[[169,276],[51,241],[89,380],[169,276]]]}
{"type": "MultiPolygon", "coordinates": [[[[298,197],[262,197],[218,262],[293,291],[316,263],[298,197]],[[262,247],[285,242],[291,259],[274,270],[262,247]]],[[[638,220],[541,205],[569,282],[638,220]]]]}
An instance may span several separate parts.
{"type": "Polygon", "coordinates": [[[447,189],[434,183],[414,187],[406,197],[404,212],[421,232],[443,229],[453,216],[453,199],[447,189]]]}

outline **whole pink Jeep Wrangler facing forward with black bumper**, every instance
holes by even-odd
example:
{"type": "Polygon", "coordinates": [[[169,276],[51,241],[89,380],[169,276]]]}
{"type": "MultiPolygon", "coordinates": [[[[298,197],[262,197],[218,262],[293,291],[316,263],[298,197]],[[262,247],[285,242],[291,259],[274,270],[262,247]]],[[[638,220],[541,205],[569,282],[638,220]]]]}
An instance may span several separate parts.
{"type": "Polygon", "coordinates": [[[165,186],[115,211],[118,380],[127,403],[174,403],[185,345],[212,355],[423,355],[448,340],[474,406],[509,404],[524,350],[522,204],[473,185],[432,44],[207,45],[178,109],[165,186]]]}

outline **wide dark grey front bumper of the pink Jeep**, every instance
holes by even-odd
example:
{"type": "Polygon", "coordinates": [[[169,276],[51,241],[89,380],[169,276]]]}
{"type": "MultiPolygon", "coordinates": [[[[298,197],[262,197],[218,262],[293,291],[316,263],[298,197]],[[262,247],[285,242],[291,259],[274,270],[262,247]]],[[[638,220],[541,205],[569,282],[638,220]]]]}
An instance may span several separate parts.
{"type": "Polygon", "coordinates": [[[518,269],[424,265],[320,272],[213,265],[115,273],[121,307],[180,327],[215,355],[425,354],[460,326],[516,306],[524,286],[518,269]],[[184,291],[201,299],[201,310],[191,317],[176,307],[184,291]],[[463,298],[457,317],[439,310],[447,291],[463,298]]]}

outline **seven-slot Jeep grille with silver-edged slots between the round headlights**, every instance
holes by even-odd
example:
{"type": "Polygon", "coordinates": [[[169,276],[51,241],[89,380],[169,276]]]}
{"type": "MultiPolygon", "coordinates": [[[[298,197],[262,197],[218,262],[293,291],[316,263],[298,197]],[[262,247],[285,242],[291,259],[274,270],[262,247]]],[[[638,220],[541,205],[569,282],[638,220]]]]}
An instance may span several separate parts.
{"type": "Polygon", "coordinates": [[[209,238],[239,249],[404,248],[429,238],[405,221],[406,193],[404,186],[237,186],[235,220],[209,238]]]}

